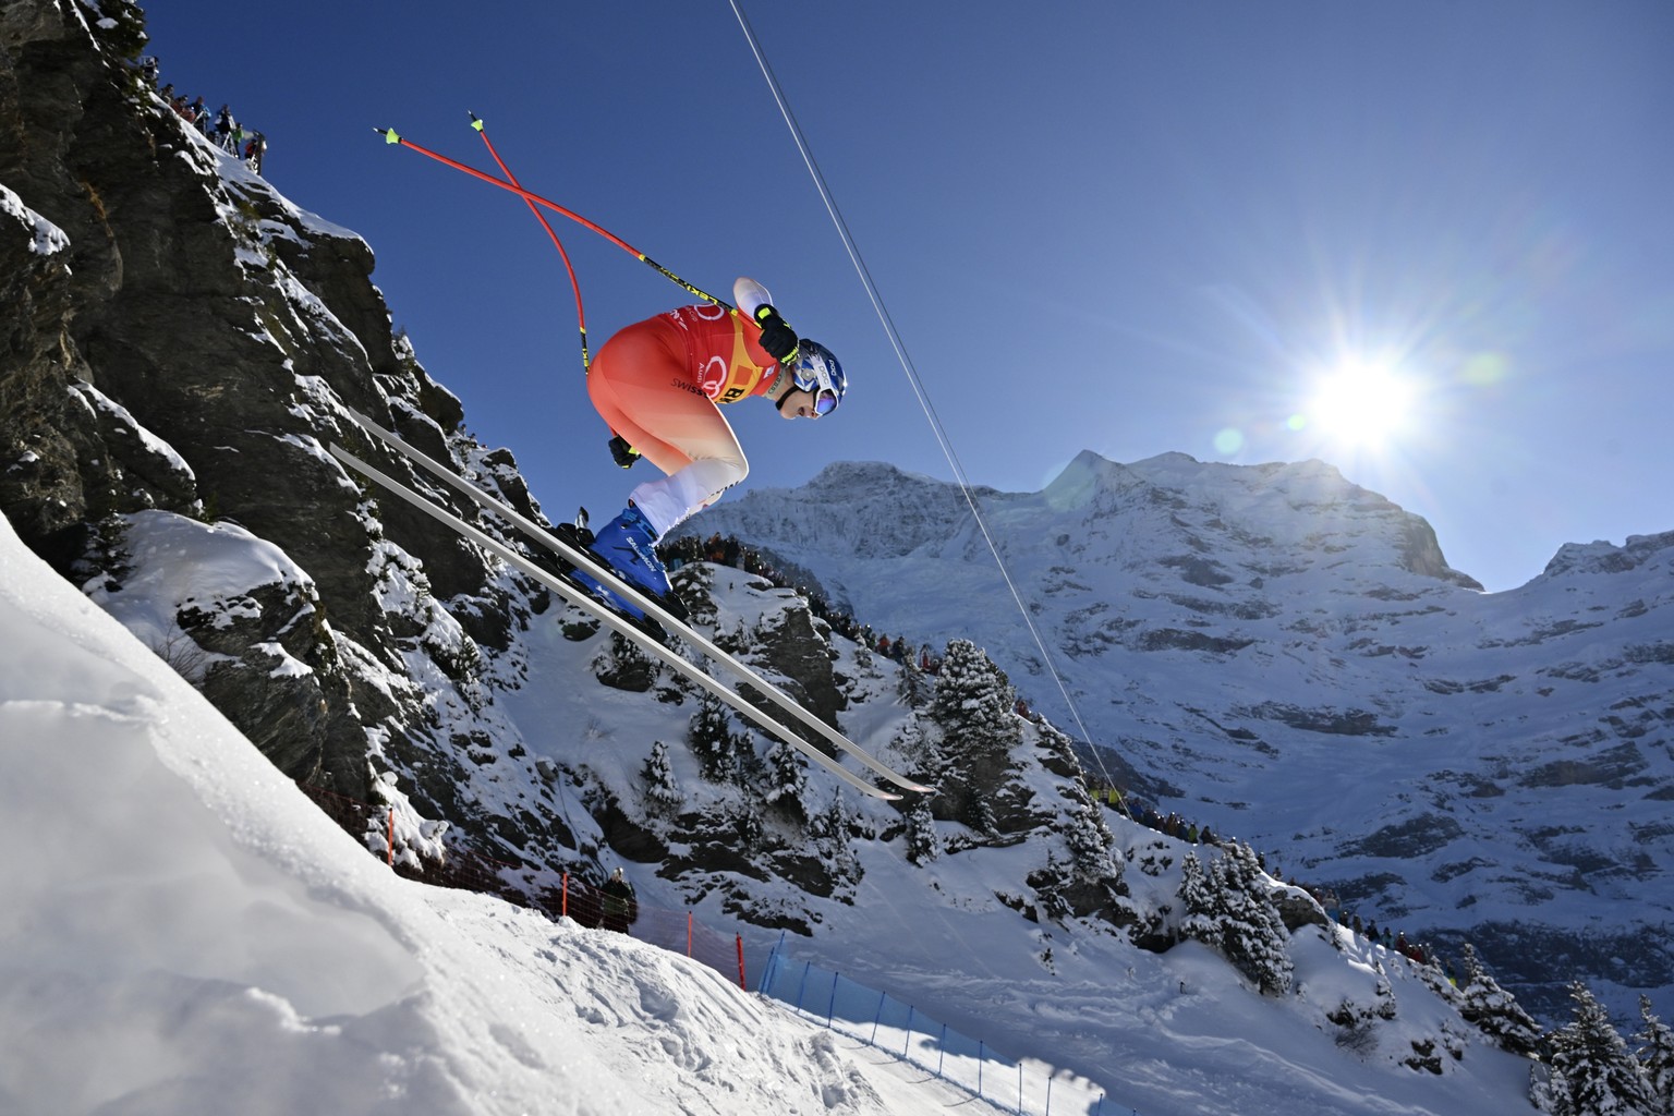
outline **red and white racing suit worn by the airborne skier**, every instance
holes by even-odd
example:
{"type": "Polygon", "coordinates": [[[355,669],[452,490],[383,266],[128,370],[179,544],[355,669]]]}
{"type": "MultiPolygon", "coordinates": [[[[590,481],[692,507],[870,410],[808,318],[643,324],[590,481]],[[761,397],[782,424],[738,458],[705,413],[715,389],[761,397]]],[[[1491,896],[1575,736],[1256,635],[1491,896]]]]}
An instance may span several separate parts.
{"type": "Polygon", "coordinates": [[[733,284],[738,310],[681,306],[613,335],[588,371],[588,397],[609,428],[666,477],[629,499],[658,537],[750,472],[718,403],[773,387],[778,361],[762,348],[755,310],[772,301],[755,279],[733,284]]]}

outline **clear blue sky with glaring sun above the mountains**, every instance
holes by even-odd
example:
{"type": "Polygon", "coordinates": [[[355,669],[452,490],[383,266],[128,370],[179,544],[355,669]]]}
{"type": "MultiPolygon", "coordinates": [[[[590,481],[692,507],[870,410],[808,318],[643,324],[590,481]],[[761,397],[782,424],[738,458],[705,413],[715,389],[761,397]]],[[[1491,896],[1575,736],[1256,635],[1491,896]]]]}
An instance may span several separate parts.
{"type": "MultiPolygon", "coordinates": [[[[1319,457],[1495,591],[1564,542],[1674,529],[1674,7],[745,12],[973,482],[1036,490],[1083,448],[1319,457]],[[1343,373],[1384,395],[1333,405],[1343,373]]],[[[648,470],[604,448],[562,261],[514,196],[373,127],[490,169],[474,110],[527,187],[716,294],[763,281],[852,393],[819,423],[727,408],[747,485],[953,477],[723,0],[147,15],[162,80],[231,104],[288,197],[367,238],[549,515],[614,514],[648,470]]],[[[690,301],[554,228],[594,351],[690,301]]]]}

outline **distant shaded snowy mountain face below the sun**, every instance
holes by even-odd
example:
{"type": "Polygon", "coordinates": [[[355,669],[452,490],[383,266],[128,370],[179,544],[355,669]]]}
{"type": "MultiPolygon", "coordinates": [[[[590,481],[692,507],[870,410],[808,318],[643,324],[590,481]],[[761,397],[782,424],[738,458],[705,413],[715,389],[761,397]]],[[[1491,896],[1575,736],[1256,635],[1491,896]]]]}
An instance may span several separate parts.
{"type": "Polygon", "coordinates": [[[1674,532],[1564,547],[1490,596],[1321,462],[1085,452],[1041,492],[974,497],[1009,584],[954,485],[887,465],[690,530],[891,637],[974,639],[1120,781],[1379,924],[1476,939],[1537,1011],[1567,1011],[1542,992],[1565,965],[1622,1017],[1674,985],[1649,930],[1674,907],[1674,532]]]}

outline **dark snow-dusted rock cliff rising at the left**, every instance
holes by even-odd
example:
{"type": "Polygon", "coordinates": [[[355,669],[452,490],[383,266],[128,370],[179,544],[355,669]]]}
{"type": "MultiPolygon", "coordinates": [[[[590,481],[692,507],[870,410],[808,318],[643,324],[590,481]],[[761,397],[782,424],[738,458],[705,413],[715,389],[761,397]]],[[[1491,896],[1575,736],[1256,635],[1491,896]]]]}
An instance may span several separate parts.
{"type": "MultiPolygon", "coordinates": [[[[306,586],[254,587],[233,624],[182,606],[159,639],[209,656],[204,691],[288,775],[368,798],[368,723],[429,746],[420,703],[368,684],[417,634],[378,602],[382,532],[432,592],[504,589],[417,517],[370,517],[323,447],[358,443],[348,403],[445,455],[462,412],[392,338],[367,244],[184,127],[126,60],[137,10],[104,7],[0,10],[0,507],[79,584],[121,572],[114,517],[137,512],[276,542],[306,586]]],[[[504,642],[504,619],[477,636],[504,642]]]]}

